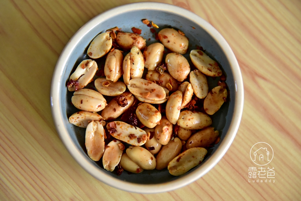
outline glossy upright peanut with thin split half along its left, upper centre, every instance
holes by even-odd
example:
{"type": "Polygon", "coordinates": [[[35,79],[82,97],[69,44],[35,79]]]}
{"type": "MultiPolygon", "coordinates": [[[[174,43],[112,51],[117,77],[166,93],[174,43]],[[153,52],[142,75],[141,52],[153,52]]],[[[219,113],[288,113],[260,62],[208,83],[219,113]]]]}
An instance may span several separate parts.
{"type": "Polygon", "coordinates": [[[141,78],[144,71],[144,58],[142,52],[136,46],[130,52],[131,78],[141,78]]]}

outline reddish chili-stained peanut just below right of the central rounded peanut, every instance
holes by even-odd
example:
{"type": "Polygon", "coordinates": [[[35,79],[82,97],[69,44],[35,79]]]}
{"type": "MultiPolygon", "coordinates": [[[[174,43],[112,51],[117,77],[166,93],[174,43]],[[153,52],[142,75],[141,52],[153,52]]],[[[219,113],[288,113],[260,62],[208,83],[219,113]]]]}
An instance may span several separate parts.
{"type": "Polygon", "coordinates": [[[155,127],[155,138],[160,144],[166,145],[170,141],[171,135],[172,123],[166,118],[166,116],[163,116],[160,124],[155,127]]]}

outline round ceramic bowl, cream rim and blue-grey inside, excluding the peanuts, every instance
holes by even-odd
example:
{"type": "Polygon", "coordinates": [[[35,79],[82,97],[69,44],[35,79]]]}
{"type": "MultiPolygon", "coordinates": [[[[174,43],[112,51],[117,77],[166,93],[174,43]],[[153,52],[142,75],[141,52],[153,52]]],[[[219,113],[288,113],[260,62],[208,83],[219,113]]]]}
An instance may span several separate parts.
{"type": "MultiPolygon", "coordinates": [[[[100,67],[101,64],[98,63],[100,67]]],[[[218,79],[208,78],[209,90],[217,86],[218,79]]],[[[51,84],[51,109],[57,132],[73,158],[88,173],[112,187],[135,193],[160,193],[190,184],[212,169],[224,156],[236,135],[243,110],[243,82],[240,68],[228,43],[208,22],[196,14],[173,5],[140,2],[119,6],[106,11],[80,28],[67,43],[54,70],[51,84]],[[191,63],[189,53],[197,46],[202,46],[206,53],[216,60],[227,76],[230,100],[212,116],[213,126],[220,131],[220,142],[208,150],[204,161],[182,176],[172,176],[167,168],[161,171],[145,170],[140,174],[109,172],[102,166],[101,160],[92,161],[85,149],[85,129],[70,124],[68,118],[77,110],[71,106],[72,92],[66,83],[71,72],[84,59],[90,42],[100,32],[112,27],[119,27],[124,32],[131,28],[142,29],[141,36],[147,45],[155,40],[150,27],[141,19],[154,21],[160,28],[174,27],[181,29],[189,38],[189,49],[184,56],[191,63]]]]}

